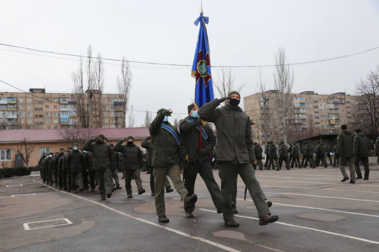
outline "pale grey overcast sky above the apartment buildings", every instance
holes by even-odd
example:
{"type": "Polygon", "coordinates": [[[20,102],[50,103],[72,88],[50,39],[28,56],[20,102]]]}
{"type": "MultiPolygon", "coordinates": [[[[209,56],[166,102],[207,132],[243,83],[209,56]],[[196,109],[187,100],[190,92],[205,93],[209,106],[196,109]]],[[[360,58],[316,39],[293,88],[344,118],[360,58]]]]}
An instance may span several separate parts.
{"type": "MultiPolygon", "coordinates": [[[[379,1],[203,1],[209,17],[211,64],[215,66],[272,65],[278,47],[289,63],[358,53],[379,46],[379,1]]],[[[194,1],[2,1],[0,43],[47,51],[104,58],[191,65],[199,27],[200,0],[194,1]]],[[[30,51],[0,46],[0,79],[23,90],[71,91],[74,57],[30,55],[30,51]],[[22,51],[29,54],[10,52],[22,51]]],[[[35,54],[35,53],[33,53],[35,54]]],[[[120,66],[105,65],[105,92],[117,92],[120,66]]],[[[354,84],[379,64],[379,49],[339,60],[292,67],[293,91],[354,93],[354,84]]],[[[185,117],[194,98],[191,67],[132,63],[130,105],[156,112],[172,109],[185,117]]],[[[257,91],[259,68],[233,69],[236,82],[246,82],[241,95],[257,91]]],[[[212,69],[217,81],[219,68],[212,69]]],[[[272,88],[273,68],[261,69],[272,88]]],[[[2,91],[14,91],[0,84],[2,91]]],[[[215,93],[215,97],[218,95],[215,93]]],[[[144,112],[134,112],[137,125],[144,112]]],[[[170,119],[173,123],[173,119],[170,119]]]]}

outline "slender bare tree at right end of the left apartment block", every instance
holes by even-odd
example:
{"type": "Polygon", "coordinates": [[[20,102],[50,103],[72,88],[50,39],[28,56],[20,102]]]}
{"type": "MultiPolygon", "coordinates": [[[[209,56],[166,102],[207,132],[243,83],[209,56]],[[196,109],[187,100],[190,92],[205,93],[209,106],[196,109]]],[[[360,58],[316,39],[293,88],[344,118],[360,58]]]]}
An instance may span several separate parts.
{"type": "MultiPolygon", "coordinates": [[[[118,76],[116,81],[118,93],[123,95],[123,102],[119,102],[118,108],[116,108],[123,113],[122,118],[126,118],[132,79],[133,76],[130,71],[129,63],[124,56],[121,62],[121,78],[118,76]]],[[[116,120],[118,120],[118,118],[116,118],[116,120]]],[[[126,123],[123,121],[121,127],[125,127],[125,125],[126,123]]]]}

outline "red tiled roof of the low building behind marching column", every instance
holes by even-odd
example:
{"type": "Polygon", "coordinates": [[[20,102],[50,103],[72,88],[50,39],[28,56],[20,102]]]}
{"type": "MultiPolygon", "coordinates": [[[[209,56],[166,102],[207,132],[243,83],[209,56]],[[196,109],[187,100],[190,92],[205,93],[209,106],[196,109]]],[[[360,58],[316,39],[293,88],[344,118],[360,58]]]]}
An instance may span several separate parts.
{"type": "MultiPolygon", "coordinates": [[[[83,139],[88,136],[88,129],[69,129],[80,134],[83,139]],[[80,132],[80,133],[79,133],[80,132]]],[[[67,129],[8,129],[0,130],[0,144],[4,142],[21,142],[26,141],[64,141],[68,135],[67,129]]],[[[149,136],[149,128],[92,128],[92,136],[100,134],[105,135],[108,139],[120,139],[127,136],[134,138],[143,138],[149,136]]]]}

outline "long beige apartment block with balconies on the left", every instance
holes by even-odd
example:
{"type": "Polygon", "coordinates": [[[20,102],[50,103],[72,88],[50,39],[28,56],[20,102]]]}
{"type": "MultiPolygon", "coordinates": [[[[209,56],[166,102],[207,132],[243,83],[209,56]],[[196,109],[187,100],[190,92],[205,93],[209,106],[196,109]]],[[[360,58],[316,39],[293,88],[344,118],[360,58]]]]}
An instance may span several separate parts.
{"type": "MultiPolygon", "coordinates": [[[[96,90],[93,90],[96,91],[96,90]]],[[[84,94],[89,104],[88,94],[84,94]]],[[[93,127],[118,128],[125,122],[122,94],[101,94],[92,108],[92,120],[101,118],[93,127]],[[101,105],[101,111],[99,112],[101,105]],[[102,114],[100,116],[99,114],[102,114]]],[[[27,92],[0,92],[0,129],[59,129],[78,123],[75,111],[76,94],[46,93],[44,88],[27,92]]]]}

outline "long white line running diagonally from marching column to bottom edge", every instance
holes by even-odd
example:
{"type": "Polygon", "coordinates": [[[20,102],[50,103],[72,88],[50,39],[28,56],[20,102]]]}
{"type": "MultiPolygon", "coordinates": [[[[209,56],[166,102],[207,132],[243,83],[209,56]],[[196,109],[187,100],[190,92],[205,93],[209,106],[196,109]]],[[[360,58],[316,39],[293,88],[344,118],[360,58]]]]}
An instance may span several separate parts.
{"type": "Polygon", "coordinates": [[[173,233],[176,233],[176,234],[179,234],[179,235],[185,236],[185,237],[187,237],[187,238],[191,238],[191,239],[195,239],[195,240],[203,241],[203,242],[205,242],[205,243],[208,243],[208,244],[213,245],[213,246],[215,246],[215,247],[218,247],[218,248],[224,249],[224,250],[226,250],[226,251],[230,251],[230,252],[240,252],[240,250],[237,250],[237,249],[234,249],[234,248],[231,248],[231,247],[228,247],[228,246],[222,245],[222,244],[220,244],[220,243],[217,243],[217,242],[214,242],[214,241],[211,241],[211,240],[207,240],[207,239],[204,239],[204,238],[201,238],[201,237],[198,237],[198,236],[194,236],[194,235],[191,235],[191,234],[187,234],[187,233],[181,232],[181,231],[176,230],[176,229],[173,229],[173,228],[169,228],[169,227],[162,226],[162,225],[159,225],[159,224],[154,223],[154,222],[151,222],[151,221],[147,221],[147,220],[142,219],[142,218],[134,217],[134,216],[132,216],[132,215],[126,214],[126,213],[121,212],[121,211],[118,211],[117,209],[114,209],[114,208],[108,207],[108,206],[106,206],[106,205],[103,205],[103,204],[101,204],[101,203],[99,203],[99,202],[96,202],[96,201],[90,200],[90,199],[88,199],[88,198],[80,197],[80,196],[78,196],[78,195],[74,195],[74,194],[71,194],[71,193],[68,193],[68,192],[65,192],[65,191],[57,190],[57,189],[55,189],[55,188],[53,188],[53,187],[51,187],[51,186],[49,186],[49,185],[45,185],[45,184],[43,184],[43,183],[41,183],[41,182],[39,182],[39,181],[36,181],[36,180],[34,180],[34,179],[33,179],[33,181],[34,181],[34,182],[37,182],[37,183],[40,183],[40,184],[42,184],[42,185],[44,185],[44,186],[50,187],[50,188],[52,188],[52,189],[55,190],[55,191],[59,191],[59,192],[66,193],[66,194],[68,194],[68,195],[71,195],[71,196],[74,196],[74,197],[77,197],[77,198],[80,198],[80,199],[87,200],[87,201],[89,201],[90,203],[93,203],[93,204],[96,204],[96,205],[102,206],[102,207],[104,207],[104,208],[106,208],[106,209],[108,209],[108,210],[111,210],[111,211],[113,211],[113,212],[115,212],[115,213],[118,213],[118,214],[120,214],[120,215],[123,215],[123,216],[129,217],[129,218],[131,218],[131,219],[134,219],[134,220],[137,220],[137,221],[140,221],[140,222],[144,222],[144,223],[146,223],[146,224],[150,224],[150,225],[155,226],[155,227],[158,227],[158,228],[165,229],[165,230],[167,230],[167,231],[170,231],[170,232],[173,232],[173,233]]]}

